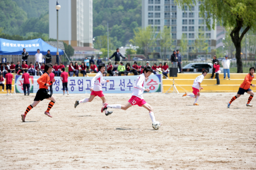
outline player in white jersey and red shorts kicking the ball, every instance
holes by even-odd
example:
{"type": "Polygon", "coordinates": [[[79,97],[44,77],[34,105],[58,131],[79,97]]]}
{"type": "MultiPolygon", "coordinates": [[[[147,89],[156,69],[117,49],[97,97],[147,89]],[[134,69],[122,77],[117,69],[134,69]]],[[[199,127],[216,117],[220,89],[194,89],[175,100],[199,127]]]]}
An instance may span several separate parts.
{"type": "Polygon", "coordinates": [[[126,103],[126,105],[104,105],[102,107],[102,111],[106,111],[107,108],[119,108],[122,110],[127,110],[127,108],[131,107],[132,105],[138,105],[146,108],[149,111],[149,116],[152,122],[156,122],[156,119],[154,117],[153,113],[153,107],[150,106],[147,102],[143,100],[143,92],[149,92],[149,88],[145,88],[145,83],[148,81],[149,75],[153,73],[153,69],[150,66],[146,66],[143,70],[143,73],[136,78],[134,88],[132,89],[131,93],[131,98],[130,100],[126,103]]]}

